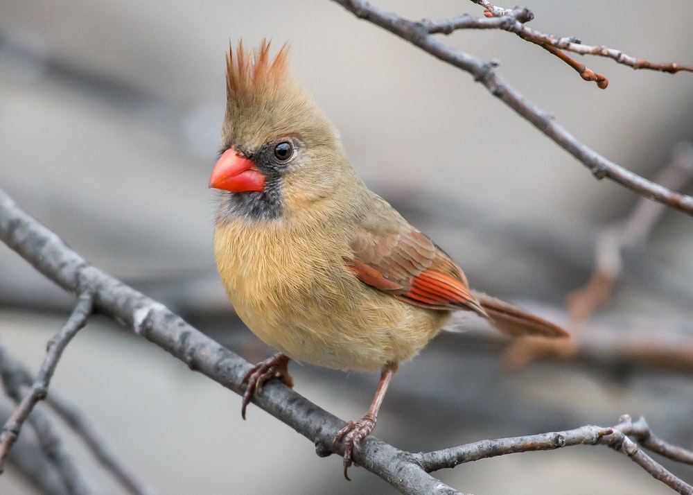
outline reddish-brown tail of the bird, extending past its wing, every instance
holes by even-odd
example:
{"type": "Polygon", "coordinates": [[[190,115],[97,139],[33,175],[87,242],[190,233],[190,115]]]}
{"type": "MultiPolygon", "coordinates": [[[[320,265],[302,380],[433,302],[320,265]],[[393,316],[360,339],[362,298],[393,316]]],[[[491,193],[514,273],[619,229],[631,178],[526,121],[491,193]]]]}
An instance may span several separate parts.
{"type": "Polygon", "coordinates": [[[489,315],[494,327],[511,336],[538,336],[550,338],[570,337],[570,333],[557,325],[527,313],[505,301],[484,293],[474,292],[480,306],[489,315]]]}

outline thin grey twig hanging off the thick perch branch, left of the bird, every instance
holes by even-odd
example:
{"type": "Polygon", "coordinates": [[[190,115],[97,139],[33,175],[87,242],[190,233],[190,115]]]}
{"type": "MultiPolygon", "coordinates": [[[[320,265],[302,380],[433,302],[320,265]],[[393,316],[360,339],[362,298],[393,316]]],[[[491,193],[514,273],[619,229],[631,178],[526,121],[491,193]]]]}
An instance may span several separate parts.
{"type": "Polygon", "coordinates": [[[30,387],[30,392],[21,399],[17,409],[10,415],[10,419],[8,419],[5,426],[3,426],[2,433],[0,433],[0,473],[3,471],[5,459],[12,448],[12,444],[15,443],[19,433],[21,433],[21,426],[24,425],[36,404],[46,398],[51,378],[55,372],[55,367],[58,366],[62,351],[73,336],[87,323],[93,304],[94,296],[91,293],[85,292],[80,294],[70,318],[60,332],[49,342],[46,358],[30,387]]]}

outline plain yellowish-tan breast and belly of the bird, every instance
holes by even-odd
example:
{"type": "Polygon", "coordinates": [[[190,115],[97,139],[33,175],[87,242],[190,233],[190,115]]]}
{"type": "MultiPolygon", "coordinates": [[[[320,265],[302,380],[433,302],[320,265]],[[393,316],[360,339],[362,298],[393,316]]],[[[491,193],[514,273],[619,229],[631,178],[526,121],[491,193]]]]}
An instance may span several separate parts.
{"type": "Polygon", "coordinates": [[[348,234],[337,228],[307,233],[279,222],[219,223],[214,254],[231,303],[261,340],[296,361],[374,370],[411,358],[449,313],[358,281],[343,261],[351,256],[348,234]]]}

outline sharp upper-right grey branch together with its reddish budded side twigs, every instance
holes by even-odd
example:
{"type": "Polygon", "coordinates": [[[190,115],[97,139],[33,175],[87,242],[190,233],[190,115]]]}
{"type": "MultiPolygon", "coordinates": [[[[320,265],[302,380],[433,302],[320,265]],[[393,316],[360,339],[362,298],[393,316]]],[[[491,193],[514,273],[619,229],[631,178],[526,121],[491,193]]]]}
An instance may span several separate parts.
{"type": "Polygon", "coordinates": [[[515,110],[520,116],[531,122],[538,130],[547,135],[552,141],[561,146],[582,162],[597,179],[608,177],[623,186],[639,193],[645,198],[662,202],[663,204],[693,215],[693,197],[676,193],[667,187],[640,177],[640,175],[611,162],[595,150],[589,148],[574,137],[568,130],[554,121],[553,117],[531,103],[525,96],[511,87],[497,73],[495,60],[483,60],[482,58],[453,49],[434,37],[435,33],[453,33],[464,28],[496,28],[507,29],[517,33],[525,40],[539,44],[564,62],[576,69],[581,77],[595,80],[600,87],[606,87],[607,80],[604,76],[586,69],[584,65],[572,60],[561,51],[572,50],[576,53],[601,55],[613,58],[619,63],[629,64],[636,69],[656,69],[667,72],[679,70],[693,71],[693,67],[683,67],[678,64],[651,64],[644,60],[637,60],[620,51],[608,49],[602,46],[587,46],[577,42],[572,37],[554,39],[533,30],[527,30],[523,24],[531,20],[534,15],[527,8],[514,8],[512,10],[491,6],[486,1],[476,0],[486,8],[485,15],[489,18],[474,19],[468,15],[462,15],[453,19],[442,21],[410,21],[392,12],[363,0],[333,0],[342,7],[352,12],[356,17],[365,19],[376,26],[386,29],[390,33],[407,40],[418,46],[423,51],[436,58],[447,62],[459,69],[470,73],[474,80],[482,83],[493,96],[499,98],[506,105],[515,110]]]}

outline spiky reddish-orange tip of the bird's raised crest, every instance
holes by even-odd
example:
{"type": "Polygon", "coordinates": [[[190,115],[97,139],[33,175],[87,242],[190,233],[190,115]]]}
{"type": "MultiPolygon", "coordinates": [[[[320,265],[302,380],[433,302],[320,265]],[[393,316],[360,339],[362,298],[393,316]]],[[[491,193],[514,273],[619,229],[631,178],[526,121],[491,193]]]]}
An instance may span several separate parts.
{"type": "Polygon", "coordinates": [[[238,42],[236,55],[229,43],[226,57],[226,93],[231,100],[236,96],[247,96],[261,92],[272,92],[288,72],[288,43],[283,44],[274,59],[270,59],[270,41],[262,40],[259,47],[246,52],[243,40],[238,42]]]}

